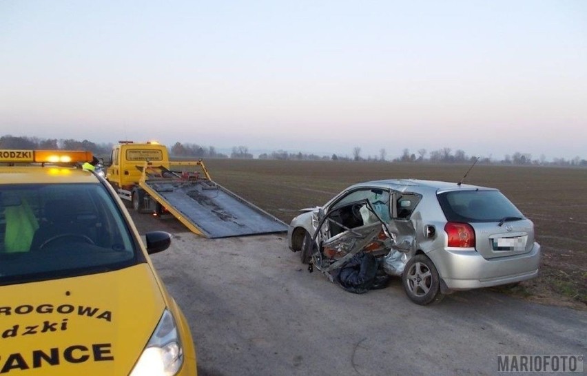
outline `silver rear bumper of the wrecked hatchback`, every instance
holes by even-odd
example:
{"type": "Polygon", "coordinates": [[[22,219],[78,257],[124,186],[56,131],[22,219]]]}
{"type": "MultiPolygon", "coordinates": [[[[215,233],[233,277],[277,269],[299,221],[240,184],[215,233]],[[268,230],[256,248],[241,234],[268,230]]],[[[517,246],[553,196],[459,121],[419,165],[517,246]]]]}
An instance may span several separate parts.
{"type": "Polygon", "coordinates": [[[435,249],[426,253],[451,290],[468,290],[529,280],[538,275],[540,245],[530,252],[485,259],[476,251],[435,249]]]}

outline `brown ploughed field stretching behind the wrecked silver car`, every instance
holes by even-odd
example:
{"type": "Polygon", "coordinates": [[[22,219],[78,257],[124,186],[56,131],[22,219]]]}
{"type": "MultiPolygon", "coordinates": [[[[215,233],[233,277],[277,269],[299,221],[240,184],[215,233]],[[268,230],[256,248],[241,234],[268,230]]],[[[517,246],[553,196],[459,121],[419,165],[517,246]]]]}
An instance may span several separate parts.
{"type": "MultiPolygon", "coordinates": [[[[345,187],[383,178],[457,182],[468,165],[210,159],[220,185],[289,223],[345,187]]],[[[506,291],[535,302],[587,309],[587,169],[477,165],[465,182],[499,188],[535,224],[540,275],[506,291]]]]}

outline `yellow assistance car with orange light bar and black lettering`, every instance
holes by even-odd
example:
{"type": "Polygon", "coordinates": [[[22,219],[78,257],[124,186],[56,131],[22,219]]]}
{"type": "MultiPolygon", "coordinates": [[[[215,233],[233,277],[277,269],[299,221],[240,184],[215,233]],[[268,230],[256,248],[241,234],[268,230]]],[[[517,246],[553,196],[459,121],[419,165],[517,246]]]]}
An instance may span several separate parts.
{"type": "Polygon", "coordinates": [[[183,313],[88,152],[0,150],[0,375],[196,375],[183,313]]]}

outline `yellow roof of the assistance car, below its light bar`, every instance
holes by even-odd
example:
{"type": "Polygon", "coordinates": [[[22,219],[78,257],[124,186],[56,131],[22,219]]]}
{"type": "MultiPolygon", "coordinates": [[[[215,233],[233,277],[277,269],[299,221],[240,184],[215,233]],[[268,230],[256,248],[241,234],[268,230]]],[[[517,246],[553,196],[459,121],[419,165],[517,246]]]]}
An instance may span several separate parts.
{"type": "Polygon", "coordinates": [[[55,165],[0,167],[0,185],[96,182],[99,182],[98,178],[90,171],[74,167],[55,165]]]}

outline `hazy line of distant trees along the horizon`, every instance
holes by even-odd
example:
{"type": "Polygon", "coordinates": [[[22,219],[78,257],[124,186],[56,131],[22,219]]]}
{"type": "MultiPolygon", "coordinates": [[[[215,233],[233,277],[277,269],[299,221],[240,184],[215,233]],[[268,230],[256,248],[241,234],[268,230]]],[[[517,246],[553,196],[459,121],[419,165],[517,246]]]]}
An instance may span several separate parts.
{"type": "MultiPolygon", "coordinates": [[[[61,150],[88,150],[97,156],[110,155],[113,143],[93,143],[89,140],[37,138],[37,137],[16,137],[1,136],[0,149],[61,149],[61,150]]],[[[195,157],[195,158],[240,158],[252,159],[254,155],[249,152],[246,146],[234,146],[230,155],[220,153],[213,146],[201,146],[194,143],[176,142],[169,149],[172,156],[195,157]]],[[[428,151],[424,148],[411,152],[410,149],[403,149],[402,154],[397,158],[388,159],[387,150],[380,149],[379,153],[373,156],[362,156],[361,147],[353,147],[351,156],[332,154],[331,156],[319,156],[316,154],[305,154],[302,152],[291,153],[285,150],[260,154],[258,159],[273,160],[346,160],[346,161],[367,161],[367,162],[402,162],[402,163],[477,163],[501,164],[501,165],[540,165],[540,166],[566,166],[566,167],[587,167],[587,160],[579,156],[573,159],[554,158],[547,161],[544,154],[533,158],[532,154],[515,152],[506,154],[502,160],[495,160],[491,156],[468,156],[464,150],[442,147],[428,151]]]]}

